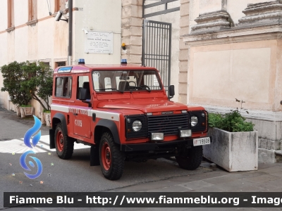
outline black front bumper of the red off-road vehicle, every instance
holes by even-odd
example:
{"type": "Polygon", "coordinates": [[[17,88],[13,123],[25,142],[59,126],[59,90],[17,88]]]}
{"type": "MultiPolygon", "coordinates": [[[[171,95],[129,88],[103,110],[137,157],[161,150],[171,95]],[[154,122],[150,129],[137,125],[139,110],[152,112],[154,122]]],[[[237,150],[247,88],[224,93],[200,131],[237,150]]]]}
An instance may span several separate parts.
{"type": "MultiPolygon", "coordinates": [[[[209,137],[212,143],[212,137],[209,137]]],[[[176,141],[159,141],[149,143],[128,143],[121,144],[121,151],[133,152],[133,151],[157,151],[161,148],[174,148],[177,146],[193,146],[193,139],[176,140],[176,141]]]]}

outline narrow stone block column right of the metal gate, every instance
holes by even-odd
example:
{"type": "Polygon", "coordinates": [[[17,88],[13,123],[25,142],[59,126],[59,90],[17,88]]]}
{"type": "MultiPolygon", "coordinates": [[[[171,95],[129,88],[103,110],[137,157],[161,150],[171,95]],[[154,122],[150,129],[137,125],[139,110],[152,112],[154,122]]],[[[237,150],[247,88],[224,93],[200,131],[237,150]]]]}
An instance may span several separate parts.
{"type": "MultiPolygon", "coordinates": [[[[189,33],[189,6],[190,0],[180,0],[180,32],[182,37],[189,33]]],[[[188,45],[179,39],[179,96],[178,102],[187,102],[187,77],[188,77],[188,45]]]]}

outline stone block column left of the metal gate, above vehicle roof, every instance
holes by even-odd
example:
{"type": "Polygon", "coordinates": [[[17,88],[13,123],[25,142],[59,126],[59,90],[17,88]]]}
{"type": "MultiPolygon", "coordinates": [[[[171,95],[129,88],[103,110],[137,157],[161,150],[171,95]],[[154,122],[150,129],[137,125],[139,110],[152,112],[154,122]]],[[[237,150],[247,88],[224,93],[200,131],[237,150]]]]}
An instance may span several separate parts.
{"type": "Polygon", "coordinates": [[[121,58],[130,64],[141,64],[142,57],[142,0],[122,0],[121,58]]]}

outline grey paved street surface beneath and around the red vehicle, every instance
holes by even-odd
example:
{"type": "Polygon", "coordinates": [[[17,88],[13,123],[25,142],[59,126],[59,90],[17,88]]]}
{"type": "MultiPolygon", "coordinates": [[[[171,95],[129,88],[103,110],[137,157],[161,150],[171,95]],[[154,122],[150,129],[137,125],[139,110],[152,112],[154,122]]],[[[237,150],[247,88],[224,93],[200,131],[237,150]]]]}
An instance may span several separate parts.
{"type": "MultiPolygon", "coordinates": [[[[11,117],[14,113],[0,111],[1,137],[13,137],[5,130],[13,127],[20,127],[22,121],[14,120],[11,117]],[[10,122],[12,121],[12,122],[10,122]],[[13,127],[8,126],[13,125],[13,127]],[[4,129],[3,129],[4,127],[4,129]],[[4,132],[4,135],[2,134],[4,132]]],[[[16,136],[24,134],[26,129],[32,126],[32,120],[26,120],[23,128],[16,132],[16,136]],[[23,132],[23,133],[22,133],[23,132]]],[[[44,129],[48,131],[48,129],[44,129]]],[[[14,139],[14,138],[13,138],[14,139]]],[[[44,142],[44,141],[43,141],[44,142]]],[[[210,163],[203,161],[201,167],[196,171],[180,170],[173,160],[149,160],[145,163],[126,162],[125,172],[119,181],[108,181],[102,177],[99,167],[89,166],[89,148],[80,148],[75,151],[72,160],[60,160],[54,151],[51,155],[46,152],[39,153],[37,157],[44,160],[45,170],[52,173],[51,177],[42,176],[46,181],[43,185],[35,184],[30,186],[28,179],[16,165],[9,165],[9,162],[16,162],[20,154],[0,153],[0,187],[4,191],[111,191],[111,192],[281,192],[282,191],[282,164],[259,163],[259,170],[252,172],[226,172],[220,167],[212,168],[210,163]],[[45,161],[46,160],[46,161],[45,161]],[[56,160],[56,165],[50,167],[50,162],[56,160]],[[74,168],[75,167],[75,168],[74,168]],[[10,169],[9,169],[10,168],[10,169]],[[11,176],[15,171],[16,177],[11,176]],[[63,171],[63,172],[62,172],[63,171]],[[82,173],[83,172],[83,173],[82,173]],[[55,179],[56,178],[56,179],[55,179]],[[92,182],[91,182],[92,178],[92,182]],[[18,184],[18,180],[23,184],[18,184]],[[8,182],[8,184],[7,184],[8,182]],[[98,183],[98,184],[97,184],[98,183]],[[66,185],[63,185],[66,184],[66,185]],[[68,188],[66,188],[68,187],[68,188]],[[95,188],[93,188],[95,187],[95,188]]],[[[41,177],[41,176],[40,176],[41,177]]],[[[34,181],[36,183],[36,181],[34,181]]],[[[37,181],[38,183],[38,181],[37,181]]],[[[3,199],[1,199],[3,200],[3,199]]],[[[3,202],[3,201],[2,201],[3,202]]],[[[1,203],[0,203],[1,204],[1,203]]],[[[0,210],[3,205],[0,205],[0,210]]],[[[14,210],[282,210],[277,208],[35,208],[35,207],[13,207],[14,210]]]]}

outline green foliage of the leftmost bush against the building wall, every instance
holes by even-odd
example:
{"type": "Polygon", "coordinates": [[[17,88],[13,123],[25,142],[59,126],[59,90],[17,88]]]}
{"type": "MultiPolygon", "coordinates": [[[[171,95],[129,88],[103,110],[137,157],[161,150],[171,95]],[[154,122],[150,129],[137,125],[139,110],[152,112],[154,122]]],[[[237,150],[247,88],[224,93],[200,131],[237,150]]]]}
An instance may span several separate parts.
{"type": "Polygon", "coordinates": [[[14,61],[1,67],[3,76],[3,87],[1,91],[8,91],[11,102],[16,106],[27,106],[32,98],[30,91],[22,86],[27,80],[22,70],[23,63],[14,61]]]}

